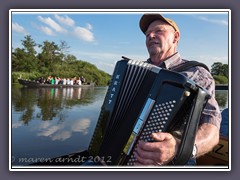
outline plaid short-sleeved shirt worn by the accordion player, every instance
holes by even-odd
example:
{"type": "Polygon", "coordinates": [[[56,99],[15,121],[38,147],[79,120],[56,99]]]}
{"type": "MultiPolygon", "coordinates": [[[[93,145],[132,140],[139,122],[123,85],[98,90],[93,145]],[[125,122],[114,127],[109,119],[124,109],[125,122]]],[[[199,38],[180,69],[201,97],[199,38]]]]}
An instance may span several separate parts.
{"type": "MultiPolygon", "coordinates": [[[[176,53],[167,60],[165,60],[160,67],[171,70],[175,66],[185,62],[186,60],[181,59],[180,54],[176,53]]],[[[151,63],[151,59],[147,62],[151,63]]],[[[200,118],[200,124],[211,123],[220,129],[221,124],[221,112],[218,103],[215,99],[215,81],[210,72],[205,68],[196,66],[188,69],[187,71],[181,72],[183,75],[195,81],[198,85],[205,88],[211,98],[208,100],[200,118]]]]}

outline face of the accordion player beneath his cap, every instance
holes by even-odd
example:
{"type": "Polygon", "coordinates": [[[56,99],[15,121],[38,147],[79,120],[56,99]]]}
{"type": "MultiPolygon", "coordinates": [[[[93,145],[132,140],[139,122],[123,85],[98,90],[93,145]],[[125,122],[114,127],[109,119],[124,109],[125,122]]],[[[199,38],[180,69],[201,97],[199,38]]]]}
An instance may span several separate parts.
{"type": "Polygon", "coordinates": [[[176,43],[175,30],[172,26],[161,20],[156,20],[149,25],[145,35],[150,57],[159,54],[160,57],[166,58],[171,55],[171,49],[176,43]]]}

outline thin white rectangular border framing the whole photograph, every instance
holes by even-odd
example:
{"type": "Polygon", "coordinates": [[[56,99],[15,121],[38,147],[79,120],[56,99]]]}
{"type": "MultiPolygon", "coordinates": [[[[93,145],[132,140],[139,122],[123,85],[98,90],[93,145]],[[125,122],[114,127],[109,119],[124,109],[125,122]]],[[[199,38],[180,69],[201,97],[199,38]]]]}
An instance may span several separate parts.
{"type": "Polygon", "coordinates": [[[205,13],[226,13],[228,12],[228,65],[229,65],[229,130],[231,130],[231,10],[230,9],[10,9],[9,10],[9,170],[10,171],[231,171],[231,131],[229,131],[229,166],[191,166],[189,167],[76,167],[76,166],[14,166],[12,167],[11,154],[11,133],[12,133],[12,102],[11,102],[11,54],[12,54],[12,13],[14,14],[143,14],[161,12],[165,14],[205,14],[205,13]]]}

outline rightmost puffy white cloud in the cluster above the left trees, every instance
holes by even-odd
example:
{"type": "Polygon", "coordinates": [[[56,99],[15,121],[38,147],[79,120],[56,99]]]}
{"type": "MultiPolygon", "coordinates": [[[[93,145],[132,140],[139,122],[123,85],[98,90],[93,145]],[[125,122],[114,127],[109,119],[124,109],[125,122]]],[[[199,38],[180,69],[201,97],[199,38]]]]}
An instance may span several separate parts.
{"type": "Polygon", "coordinates": [[[93,42],[94,41],[94,35],[93,33],[86,28],[83,27],[76,27],[73,31],[74,36],[77,38],[87,41],[87,42],[93,42]]]}

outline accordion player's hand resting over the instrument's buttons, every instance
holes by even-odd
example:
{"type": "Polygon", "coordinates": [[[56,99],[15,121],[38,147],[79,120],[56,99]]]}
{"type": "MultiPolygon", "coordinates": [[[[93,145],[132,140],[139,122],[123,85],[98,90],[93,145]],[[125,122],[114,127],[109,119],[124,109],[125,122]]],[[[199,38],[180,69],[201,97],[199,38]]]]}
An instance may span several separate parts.
{"type": "Polygon", "coordinates": [[[155,142],[140,141],[134,154],[135,165],[164,165],[168,164],[176,155],[178,143],[170,133],[153,133],[155,142]]]}

